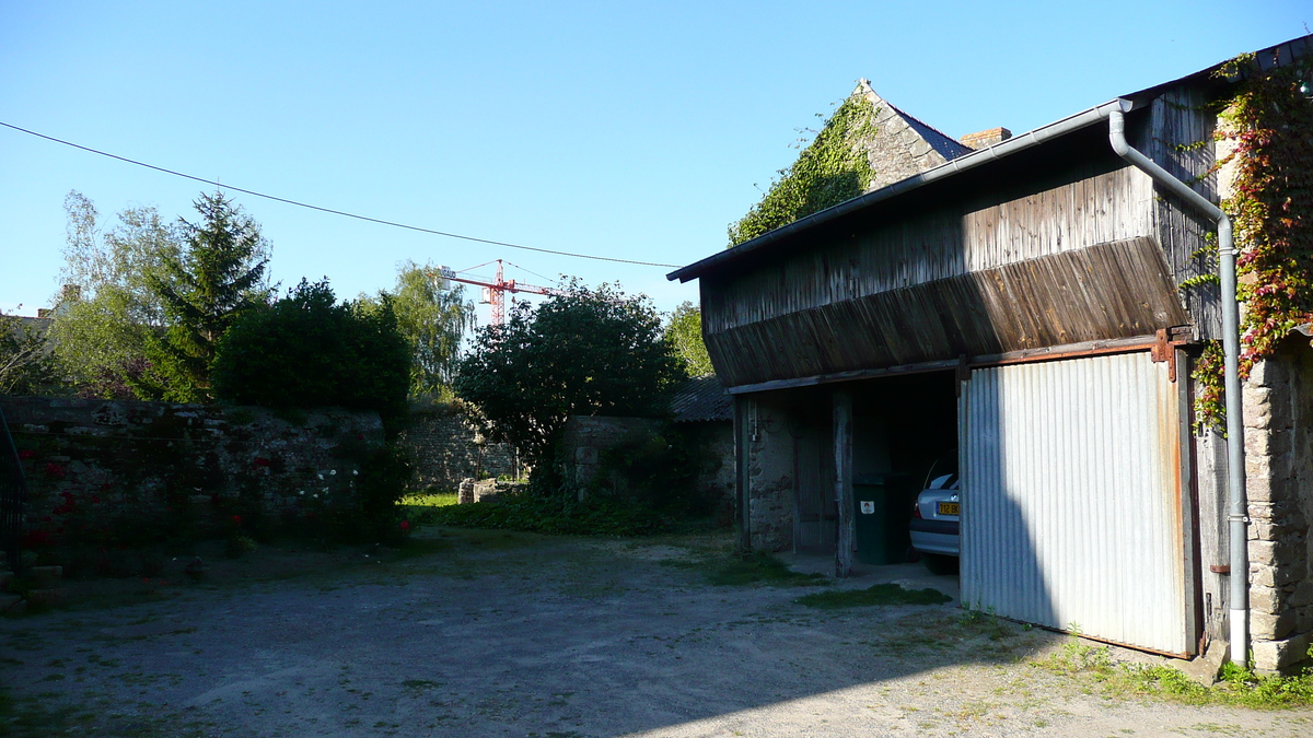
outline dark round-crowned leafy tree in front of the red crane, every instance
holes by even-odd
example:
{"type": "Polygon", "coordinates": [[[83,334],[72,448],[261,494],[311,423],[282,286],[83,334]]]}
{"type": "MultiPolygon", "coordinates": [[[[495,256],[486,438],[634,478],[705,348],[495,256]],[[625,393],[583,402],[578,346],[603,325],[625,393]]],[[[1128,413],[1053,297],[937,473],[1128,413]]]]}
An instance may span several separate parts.
{"type": "Polygon", "coordinates": [[[456,394],[537,470],[571,415],[663,415],[679,365],[646,297],[571,282],[537,310],[516,303],[504,326],[481,328],[457,368],[456,394]]]}

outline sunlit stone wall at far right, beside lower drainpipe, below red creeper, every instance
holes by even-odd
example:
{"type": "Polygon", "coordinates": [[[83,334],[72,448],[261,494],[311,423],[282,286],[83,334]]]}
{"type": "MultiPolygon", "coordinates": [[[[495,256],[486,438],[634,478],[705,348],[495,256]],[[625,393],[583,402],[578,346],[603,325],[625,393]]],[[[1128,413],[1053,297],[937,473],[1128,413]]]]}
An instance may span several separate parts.
{"type": "Polygon", "coordinates": [[[1254,667],[1289,671],[1313,645],[1313,349],[1289,339],[1243,387],[1254,667]]]}

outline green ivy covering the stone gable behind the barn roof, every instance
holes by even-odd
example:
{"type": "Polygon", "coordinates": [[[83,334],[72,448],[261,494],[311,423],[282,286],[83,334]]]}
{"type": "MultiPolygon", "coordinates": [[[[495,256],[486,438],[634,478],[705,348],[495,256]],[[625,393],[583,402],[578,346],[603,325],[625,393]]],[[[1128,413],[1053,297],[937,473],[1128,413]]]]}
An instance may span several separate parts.
{"type": "Polygon", "coordinates": [[[730,223],[730,247],[861,194],[874,172],[861,143],[876,130],[876,108],[863,95],[843,101],[762,201],[730,223]]]}

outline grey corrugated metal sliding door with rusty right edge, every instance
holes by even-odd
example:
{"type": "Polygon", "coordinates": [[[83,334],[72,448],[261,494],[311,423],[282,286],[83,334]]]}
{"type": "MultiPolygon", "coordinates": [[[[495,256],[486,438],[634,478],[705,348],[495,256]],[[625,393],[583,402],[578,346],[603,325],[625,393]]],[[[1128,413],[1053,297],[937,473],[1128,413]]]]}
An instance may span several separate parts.
{"type": "Polygon", "coordinates": [[[965,604],[1191,653],[1167,364],[1124,353],[977,369],[960,415],[965,604]]]}

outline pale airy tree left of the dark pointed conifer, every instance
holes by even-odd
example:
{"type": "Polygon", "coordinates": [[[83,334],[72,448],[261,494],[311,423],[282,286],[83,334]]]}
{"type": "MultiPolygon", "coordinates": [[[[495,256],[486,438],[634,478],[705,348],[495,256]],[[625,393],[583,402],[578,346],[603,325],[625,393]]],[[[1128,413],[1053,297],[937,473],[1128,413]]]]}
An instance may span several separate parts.
{"type": "Polygon", "coordinates": [[[89,397],[134,397],[129,380],[147,368],[146,343],[163,330],[164,306],[151,289],[163,264],[181,252],[181,236],[154,207],[130,207],[109,231],[91,200],[64,198],[68,214],[64,289],[47,334],[64,380],[89,397]]]}

